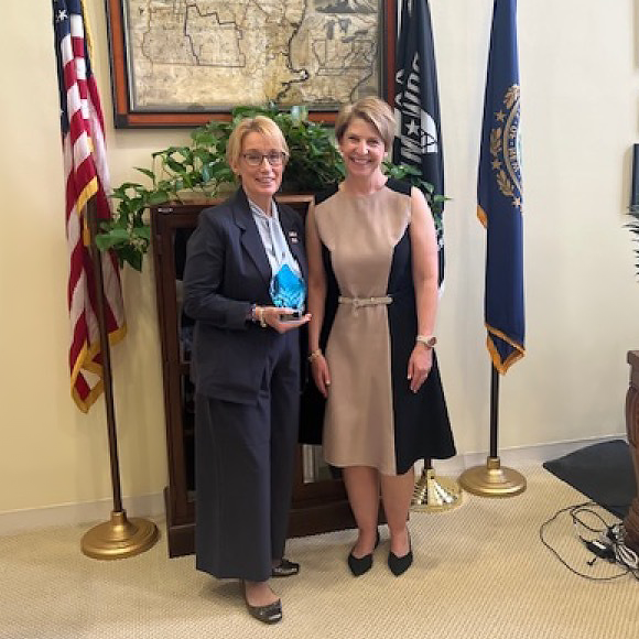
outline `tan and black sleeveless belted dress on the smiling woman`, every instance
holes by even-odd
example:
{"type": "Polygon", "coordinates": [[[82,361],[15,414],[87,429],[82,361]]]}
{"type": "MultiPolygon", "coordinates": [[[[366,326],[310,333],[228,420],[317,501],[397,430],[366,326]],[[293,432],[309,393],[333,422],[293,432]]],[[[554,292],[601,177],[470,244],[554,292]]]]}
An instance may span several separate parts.
{"type": "Polygon", "coordinates": [[[433,421],[433,407],[422,410],[424,402],[432,404],[433,389],[424,385],[412,393],[407,379],[416,334],[410,188],[392,180],[365,196],[338,188],[317,203],[315,220],[340,296],[325,348],[332,380],[323,434],[326,462],[397,475],[418,458],[452,456],[436,365],[435,432],[443,427],[443,437],[436,437],[442,446],[421,434],[433,421]]]}

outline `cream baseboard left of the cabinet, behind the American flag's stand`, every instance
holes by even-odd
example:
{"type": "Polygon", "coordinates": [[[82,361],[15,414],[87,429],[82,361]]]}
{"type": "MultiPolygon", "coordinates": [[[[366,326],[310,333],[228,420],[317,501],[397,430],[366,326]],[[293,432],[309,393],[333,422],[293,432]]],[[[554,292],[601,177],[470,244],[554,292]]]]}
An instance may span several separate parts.
{"type": "MultiPolygon", "coordinates": [[[[156,517],[164,513],[161,492],[124,497],[122,507],[129,517],[156,517]]],[[[0,512],[0,535],[18,534],[40,528],[57,526],[80,526],[109,521],[113,502],[111,499],[59,503],[44,508],[8,510],[0,512]]]]}

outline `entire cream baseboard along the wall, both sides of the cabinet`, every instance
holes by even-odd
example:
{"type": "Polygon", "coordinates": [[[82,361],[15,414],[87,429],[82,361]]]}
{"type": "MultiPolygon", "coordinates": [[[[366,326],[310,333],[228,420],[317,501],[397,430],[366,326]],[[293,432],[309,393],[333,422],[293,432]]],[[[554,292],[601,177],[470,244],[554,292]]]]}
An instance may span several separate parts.
{"type": "MultiPolygon", "coordinates": [[[[626,433],[605,437],[591,437],[570,442],[554,442],[552,444],[506,448],[499,451],[499,458],[503,466],[523,470],[527,466],[539,466],[544,462],[567,455],[584,446],[619,438],[625,440],[626,433]]],[[[452,459],[435,459],[433,467],[437,475],[456,477],[466,470],[466,468],[485,465],[486,457],[486,452],[462,453],[452,459]]],[[[418,464],[416,470],[421,472],[422,467],[423,465],[418,464]]],[[[124,497],[122,505],[129,517],[158,517],[164,515],[162,492],[139,497],[124,497]]],[[[108,521],[111,509],[112,501],[110,499],[101,499],[99,501],[61,503],[58,506],[47,506],[44,508],[9,510],[0,512],[0,535],[17,534],[54,526],[76,526],[108,521]]]]}

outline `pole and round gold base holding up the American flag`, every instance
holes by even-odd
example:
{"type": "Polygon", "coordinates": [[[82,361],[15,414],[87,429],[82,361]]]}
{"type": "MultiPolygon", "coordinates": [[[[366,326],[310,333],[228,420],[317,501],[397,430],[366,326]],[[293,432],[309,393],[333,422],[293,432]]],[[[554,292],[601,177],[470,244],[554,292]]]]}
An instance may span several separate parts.
{"type": "Polygon", "coordinates": [[[118,462],[118,440],[116,415],[113,411],[113,387],[111,379],[111,353],[109,335],[105,318],[105,289],[101,254],[95,243],[98,230],[96,201],[93,197],[86,207],[89,229],[89,251],[96,275],[97,318],[100,333],[102,355],[102,380],[105,404],[107,410],[107,429],[109,435],[109,455],[111,463],[111,485],[113,489],[113,509],[111,519],[95,526],[82,539],[82,551],[87,556],[100,560],[123,559],[149,550],[158,539],[158,527],[147,519],[128,519],[122,508],[120,470],[118,462]]]}

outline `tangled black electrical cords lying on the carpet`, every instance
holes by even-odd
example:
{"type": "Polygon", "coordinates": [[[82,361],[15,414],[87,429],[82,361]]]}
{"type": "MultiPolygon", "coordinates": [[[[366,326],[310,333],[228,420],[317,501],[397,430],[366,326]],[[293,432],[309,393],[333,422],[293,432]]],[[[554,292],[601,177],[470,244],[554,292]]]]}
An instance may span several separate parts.
{"type": "Polygon", "coordinates": [[[599,507],[599,505],[594,501],[584,501],[583,503],[566,506],[565,508],[557,510],[550,519],[540,526],[539,538],[541,542],[566,568],[580,577],[594,582],[609,582],[630,574],[636,580],[639,580],[639,557],[632,549],[626,545],[624,539],[624,527],[619,523],[608,524],[608,522],[596,510],[593,510],[593,507],[599,507]],[[619,564],[621,572],[604,577],[588,575],[571,566],[561,556],[557,550],[546,541],[544,533],[545,529],[553,521],[556,521],[564,512],[570,515],[580,541],[594,555],[593,559],[586,561],[586,564],[592,567],[597,559],[605,559],[610,564],[619,564]],[[586,520],[587,518],[595,519],[598,527],[595,527],[592,521],[586,520]],[[583,531],[596,534],[597,537],[594,539],[586,539],[583,531]]]}

